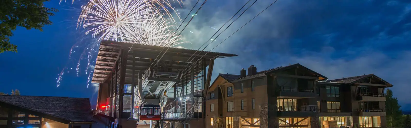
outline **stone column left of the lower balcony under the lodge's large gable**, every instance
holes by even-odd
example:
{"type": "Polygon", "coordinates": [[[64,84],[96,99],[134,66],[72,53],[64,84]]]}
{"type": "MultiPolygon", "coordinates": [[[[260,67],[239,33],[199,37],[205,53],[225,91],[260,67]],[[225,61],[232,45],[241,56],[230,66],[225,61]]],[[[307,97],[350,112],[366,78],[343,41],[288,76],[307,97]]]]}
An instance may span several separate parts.
{"type": "Polygon", "coordinates": [[[279,128],[277,106],[260,105],[260,128],[279,128]]]}

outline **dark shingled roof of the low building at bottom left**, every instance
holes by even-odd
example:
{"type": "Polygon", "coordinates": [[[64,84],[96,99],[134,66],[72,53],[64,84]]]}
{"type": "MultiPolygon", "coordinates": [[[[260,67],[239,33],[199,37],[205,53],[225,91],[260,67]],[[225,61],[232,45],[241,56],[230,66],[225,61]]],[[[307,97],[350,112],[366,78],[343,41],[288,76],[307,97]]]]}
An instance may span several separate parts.
{"type": "Polygon", "coordinates": [[[93,121],[89,98],[3,95],[0,96],[0,103],[1,102],[67,121],[93,121]]]}

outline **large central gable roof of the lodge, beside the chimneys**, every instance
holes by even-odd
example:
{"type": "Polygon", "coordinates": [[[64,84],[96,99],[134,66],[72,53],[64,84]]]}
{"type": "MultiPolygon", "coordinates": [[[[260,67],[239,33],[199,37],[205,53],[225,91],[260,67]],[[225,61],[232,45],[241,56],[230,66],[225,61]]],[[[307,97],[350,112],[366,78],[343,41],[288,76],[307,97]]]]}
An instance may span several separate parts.
{"type": "MultiPolygon", "coordinates": [[[[304,68],[304,69],[306,69],[306,70],[308,70],[308,71],[311,71],[312,73],[314,73],[314,74],[317,75],[318,77],[321,77],[321,78],[324,78],[324,79],[328,79],[328,78],[325,77],[324,75],[321,75],[320,73],[317,73],[317,72],[315,72],[315,71],[312,71],[311,69],[308,69],[307,67],[302,66],[302,65],[299,64],[299,63],[297,63],[297,64],[291,64],[291,65],[289,65],[289,66],[279,66],[279,67],[276,67],[276,68],[273,68],[273,69],[268,69],[268,70],[260,71],[260,72],[257,72],[255,75],[248,75],[248,76],[243,77],[243,78],[259,77],[258,75],[264,76],[264,75],[267,75],[267,74],[270,74],[270,73],[275,73],[275,72],[277,72],[277,71],[282,71],[282,70],[286,70],[286,69],[291,69],[291,68],[294,68],[294,67],[297,67],[297,66],[298,66],[298,67],[301,67],[301,68],[304,68]]],[[[233,81],[240,81],[240,79],[243,79],[243,78],[238,78],[238,79],[233,80],[233,81]]]]}

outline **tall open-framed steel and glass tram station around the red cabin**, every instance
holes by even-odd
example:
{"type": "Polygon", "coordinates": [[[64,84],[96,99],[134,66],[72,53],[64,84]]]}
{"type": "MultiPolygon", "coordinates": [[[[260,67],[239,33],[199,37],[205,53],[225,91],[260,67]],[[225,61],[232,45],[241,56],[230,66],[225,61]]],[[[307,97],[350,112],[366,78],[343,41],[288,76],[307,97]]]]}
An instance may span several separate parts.
{"type": "Polygon", "coordinates": [[[114,117],[123,128],[150,125],[150,121],[138,121],[142,104],[160,105],[162,122],[169,122],[164,123],[168,127],[174,127],[175,121],[186,126],[191,118],[205,117],[203,102],[214,59],[237,55],[167,49],[101,41],[92,78],[99,83],[97,110],[114,117]]]}

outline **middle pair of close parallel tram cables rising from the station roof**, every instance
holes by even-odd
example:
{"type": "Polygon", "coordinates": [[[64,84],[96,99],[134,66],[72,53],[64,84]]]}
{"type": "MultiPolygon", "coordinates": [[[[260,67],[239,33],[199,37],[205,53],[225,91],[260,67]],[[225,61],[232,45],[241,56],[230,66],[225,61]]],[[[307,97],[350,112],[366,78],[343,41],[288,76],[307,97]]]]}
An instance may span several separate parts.
{"type": "MultiPolygon", "coordinates": [[[[250,2],[250,1],[251,1],[251,0],[249,0],[248,2],[250,2]]],[[[245,3],[245,5],[247,5],[248,2],[245,3]]],[[[257,2],[257,0],[254,1],[249,7],[247,7],[247,9],[245,9],[245,10],[240,14],[240,16],[242,16],[242,14],[244,14],[245,11],[247,11],[247,10],[248,10],[251,6],[253,6],[254,3],[256,3],[256,2],[257,2]]],[[[245,5],[244,5],[243,7],[245,7],[245,5]]],[[[243,8],[243,7],[242,7],[242,8],[243,8]]],[[[242,9],[242,8],[241,8],[241,9],[242,9]]],[[[237,13],[240,12],[241,9],[238,10],[237,13]]],[[[236,14],[237,14],[237,13],[236,13],[236,14]]],[[[236,14],[234,14],[234,16],[235,16],[236,14]]],[[[233,16],[233,17],[234,17],[234,16],[233,16]]],[[[220,34],[218,34],[217,37],[219,37],[225,30],[227,30],[227,28],[229,28],[234,22],[236,22],[237,19],[240,18],[240,16],[238,16],[233,22],[230,23],[229,26],[227,26],[222,32],[220,32],[220,34]]],[[[231,17],[231,18],[233,18],[233,17],[231,17]]],[[[231,18],[229,19],[229,21],[231,20],[231,18]]],[[[228,23],[229,21],[227,21],[227,23],[228,23]]],[[[224,25],[225,25],[225,24],[224,24],[224,25]]],[[[221,30],[221,29],[224,27],[224,25],[223,25],[222,27],[220,27],[219,30],[221,30]]],[[[218,30],[218,31],[219,31],[219,30],[218,30]]],[[[218,32],[218,31],[217,31],[217,32],[218,32]]],[[[217,32],[215,32],[214,35],[217,34],[217,32]]],[[[212,35],[212,36],[210,37],[210,39],[211,39],[214,35],[212,35]]],[[[217,39],[217,37],[215,37],[215,39],[217,39]]],[[[210,39],[208,39],[208,40],[210,40],[210,39]]],[[[203,46],[208,42],[208,40],[204,42],[203,46]]],[[[208,43],[207,46],[209,46],[213,41],[215,41],[215,40],[212,40],[210,43],[208,43]]],[[[203,46],[201,46],[198,50],[196,50],[196,53],[197,53],[197,51],[199,51],[203,46]]],[[[203,50],[204,50],[205,48],[207,48],[207,46],[205,46],[205,47],[203,48],[203,50]]],[[[200,53],[203,52],[203,50],[201,50],[195,57],[197,57],[198,55],[200,55],[200,53]]],[[[195,54],[195,53],[194,53],[194,54],[195,54]]],[[[194,54],[193,54],[193,55],[194,55],[194,54]]],[[[186,60],[186,62],[189,61],[189,59],[191,59],[191,57],[193,57],[193,55],[191,55],[191,56],[186,60]]],[[[194,60],[195,57],[194,57],[193,59],[191,59],[190,61],[194,60]]],[[[194,63],[193,63],[193,64],[194,64],[194,63]]],[[[189,68],[189,67],[187,67],[187,69],[185,69],[186,66],[188,66],[188,64],[183,67],[183,71],[185,71],[185,70],[187,70],[187,69],[189,68]]]]}

